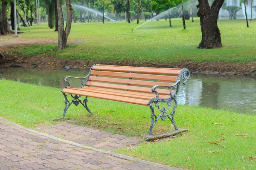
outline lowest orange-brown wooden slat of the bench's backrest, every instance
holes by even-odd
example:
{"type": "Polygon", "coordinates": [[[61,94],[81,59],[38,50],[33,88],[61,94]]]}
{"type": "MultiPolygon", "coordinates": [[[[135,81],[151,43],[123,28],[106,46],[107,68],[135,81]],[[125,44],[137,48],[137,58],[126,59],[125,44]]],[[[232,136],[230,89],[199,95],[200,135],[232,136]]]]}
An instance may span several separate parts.
{"type": "MultiPolygon", "coordinates": [[[[87,86],[103,87],[103,88],[114,88],[114,89],[120,89],[120,90],[140,91],[140,92],[145,92],[145,93],[152,93],[151,88],[131,86],[131,85],[116,85],[116,84],[102,83],[102,82],[87,82],[86,85],[87,86]]],[[[169,90],[165,90],[165,89],[157,89],[157,92],[159,94],[170,95],[169,90]]]]}

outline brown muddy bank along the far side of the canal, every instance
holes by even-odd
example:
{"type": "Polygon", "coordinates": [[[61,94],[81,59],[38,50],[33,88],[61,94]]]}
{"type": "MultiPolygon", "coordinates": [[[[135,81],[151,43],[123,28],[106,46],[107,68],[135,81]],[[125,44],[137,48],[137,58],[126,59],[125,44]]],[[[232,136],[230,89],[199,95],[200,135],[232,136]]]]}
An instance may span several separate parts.
{"type": "MultiPolygon", "coordinates": [[[[3,59],[0,58],[0,65],[3,59]]],[[[201,62],[191,63],[183,62],[178,64],[172,63],[138,63],[131,61],[87,61],[86,59],[71,60],[61,59],[54,57],[6,57],[3,67],[10,65],[20,65],[25,68],[38,67],[38,68],[63,68],[64,66],[77,67],[80,69],[90,68],[94,63],[108,64],[108,65],[125,65],[125,66],[141,66],[141,67],[163,67],[163,68],[189,68],[192,73],[204,74],[231,74],[231,75],[256,75],[256,62],[248,62],[245,64],[237,63],[222,63],[222,62],[201,62]]]]}

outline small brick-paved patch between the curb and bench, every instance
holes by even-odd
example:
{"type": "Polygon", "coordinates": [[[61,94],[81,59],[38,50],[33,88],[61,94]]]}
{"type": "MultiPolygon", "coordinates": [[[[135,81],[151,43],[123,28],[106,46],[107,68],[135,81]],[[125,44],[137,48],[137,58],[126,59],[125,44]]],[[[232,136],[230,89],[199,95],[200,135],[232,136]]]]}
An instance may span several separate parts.
{"type": "Polygon", "coordinates": [[[50,127],[40,126],[37,129],[62,139],[108,150],[128,147],[143,141],[140,138],[131,138],[69,123],[61,123],[50,127]]]}

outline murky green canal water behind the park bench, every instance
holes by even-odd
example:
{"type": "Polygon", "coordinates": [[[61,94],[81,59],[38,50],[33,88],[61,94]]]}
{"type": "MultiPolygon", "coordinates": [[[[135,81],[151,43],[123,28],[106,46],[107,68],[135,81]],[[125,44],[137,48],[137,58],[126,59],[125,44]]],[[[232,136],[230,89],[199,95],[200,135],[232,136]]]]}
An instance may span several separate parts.
{"type": "MultiPolygon", "coordinates": [[[[35,85],[63,88],[67,76],[85,77],[88,70],[39,68],[0,68],[3,78],[35,85]]],[[[80,81],[72,82],[80,87],[80,81]]],[[[256,114],[256,79],[242,76],[192,75],[181,85],[178,104],[200,105],[237,113],[256,114]]]]}

